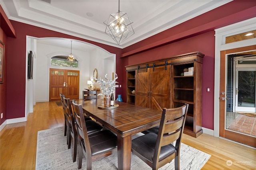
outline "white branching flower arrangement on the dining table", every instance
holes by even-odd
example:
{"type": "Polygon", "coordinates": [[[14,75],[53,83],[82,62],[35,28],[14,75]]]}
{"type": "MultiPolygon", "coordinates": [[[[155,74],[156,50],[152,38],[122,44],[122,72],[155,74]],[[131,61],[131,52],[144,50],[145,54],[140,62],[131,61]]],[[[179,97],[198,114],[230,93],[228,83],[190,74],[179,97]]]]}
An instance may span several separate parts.
{"type": "Polygon", "coordinates": [[[115,92],[115,87],[116,87],[116,79],[118,78],[117,74],[116,77],[114,78],[114,80],[111,80],[109,78],[107,78],[107,75],[105,75],[105,78],[107,81],[104,81],[102,78],[97,79],[97,78],[92,78],[95,80],[96,83],[100,84],[100,88],[102,93],[98,94],[98,95],[104,95],[104,96],[110,96],[112,93],[115,92]]]}

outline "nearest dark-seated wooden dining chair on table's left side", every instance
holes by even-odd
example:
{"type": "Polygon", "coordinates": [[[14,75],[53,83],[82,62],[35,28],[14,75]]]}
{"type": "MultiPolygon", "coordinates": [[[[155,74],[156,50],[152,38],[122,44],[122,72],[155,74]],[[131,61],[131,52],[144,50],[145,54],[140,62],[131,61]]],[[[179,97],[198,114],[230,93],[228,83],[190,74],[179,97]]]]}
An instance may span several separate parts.
{"type": "Polygon", "coordinates": [[[81,104],[72,102],[76,127],[78,130],[78,169],[82,168],[83,155],[86,156],[86,169],[92,169],[92,162],[117,152],[117,137],[111,131],[104,129],[88,134],[87,121],[84,120],[81,104]]]}

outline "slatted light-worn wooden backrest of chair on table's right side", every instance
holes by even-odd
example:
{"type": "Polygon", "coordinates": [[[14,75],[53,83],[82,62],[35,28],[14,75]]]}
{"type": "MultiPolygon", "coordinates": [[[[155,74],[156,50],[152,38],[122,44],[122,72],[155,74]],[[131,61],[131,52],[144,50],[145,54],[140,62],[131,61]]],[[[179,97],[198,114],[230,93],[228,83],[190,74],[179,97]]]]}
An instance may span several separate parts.
{"type": "MultiPolygon", "coordinates": [[[[170,159],[168,158],[159,160],[161,147],[172,144],[176,141],[176,155],[179,154],[187,112],[188,104],[184,104],[184,106],[177,108],[163,109],[153,157],[153,162],[156,162],[158,167],[170,162],[170,159]]],[[[171,158],[171,160],[172,159],[173,158],[171,158]]]]}

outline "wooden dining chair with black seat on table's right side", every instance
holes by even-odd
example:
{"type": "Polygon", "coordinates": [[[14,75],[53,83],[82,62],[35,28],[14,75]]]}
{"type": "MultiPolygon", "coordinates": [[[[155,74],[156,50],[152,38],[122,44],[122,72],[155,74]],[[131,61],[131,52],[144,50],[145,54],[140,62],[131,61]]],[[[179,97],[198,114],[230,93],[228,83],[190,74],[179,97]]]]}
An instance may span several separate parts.
{"type": "Polygon", "coordinates": [[[158,134],[148,133],[132,140],[132,152],[156,170],[174,159],[180,169],[180,144],[188,104],[162,111],[158,134]],[[175,145],[172,143],[176,141],[175,145]]]}

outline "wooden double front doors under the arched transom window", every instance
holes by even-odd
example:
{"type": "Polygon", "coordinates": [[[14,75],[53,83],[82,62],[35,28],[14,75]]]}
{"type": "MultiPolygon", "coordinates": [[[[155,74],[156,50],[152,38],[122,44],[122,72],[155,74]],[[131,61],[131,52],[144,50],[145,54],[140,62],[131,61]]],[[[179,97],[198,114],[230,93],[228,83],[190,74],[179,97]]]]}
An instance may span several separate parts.
{"type": "Polygon", "coordinates": [[[79,98],[79,71],[50,68],[49,101],[60,100],[60,93],[66,98],[79,98]]]}

